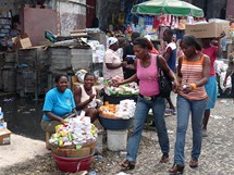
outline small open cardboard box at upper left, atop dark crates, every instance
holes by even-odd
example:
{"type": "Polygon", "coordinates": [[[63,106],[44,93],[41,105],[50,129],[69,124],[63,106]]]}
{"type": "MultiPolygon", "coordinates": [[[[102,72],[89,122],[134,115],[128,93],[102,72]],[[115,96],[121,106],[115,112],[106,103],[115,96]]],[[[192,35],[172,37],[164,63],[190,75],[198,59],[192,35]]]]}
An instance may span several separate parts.
{"type": "Polygon", "coordinates": [[[30,39],[27,34],[19,35],[12,38],[13,50],[27,49],[32,47],[30,39]]]}

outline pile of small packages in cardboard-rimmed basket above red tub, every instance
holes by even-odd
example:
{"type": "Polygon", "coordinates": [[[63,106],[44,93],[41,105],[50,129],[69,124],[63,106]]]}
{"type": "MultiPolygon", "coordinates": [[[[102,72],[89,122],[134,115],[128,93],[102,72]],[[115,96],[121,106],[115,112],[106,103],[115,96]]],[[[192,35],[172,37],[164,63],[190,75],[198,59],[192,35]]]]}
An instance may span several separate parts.
{"type": "Polygon", "coordinates": [[[52,152],[67,158],[90,155],[97,141],[97,128],[90,117],[77,116],[65,122],[56,127],[56,134],[49,140],[52,152]]]}

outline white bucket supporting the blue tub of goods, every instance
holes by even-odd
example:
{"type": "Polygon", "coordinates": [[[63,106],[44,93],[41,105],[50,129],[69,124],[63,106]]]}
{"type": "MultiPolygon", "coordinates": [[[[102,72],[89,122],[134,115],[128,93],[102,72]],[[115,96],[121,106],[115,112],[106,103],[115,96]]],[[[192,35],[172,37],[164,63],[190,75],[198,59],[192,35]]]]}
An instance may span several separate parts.
{"type": "Polygon", "coordinates": [[[107,140],[109,150],[126,150],[127,130],[107,130],[107,140]]]}

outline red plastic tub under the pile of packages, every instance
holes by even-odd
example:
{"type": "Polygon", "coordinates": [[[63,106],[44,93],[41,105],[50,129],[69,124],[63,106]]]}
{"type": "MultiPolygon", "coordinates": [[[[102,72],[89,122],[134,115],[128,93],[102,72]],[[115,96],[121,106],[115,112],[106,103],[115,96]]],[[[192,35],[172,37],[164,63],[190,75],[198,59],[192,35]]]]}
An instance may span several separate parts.
{"type": "Polygon", "coordinates": [[[79,171],[89,170],[94,153],[83,158],[65,158],[58,157],[56,154],[52,154],[52,157],[54,158],[56,163],[60,171],[75,173],[79,171]]]}

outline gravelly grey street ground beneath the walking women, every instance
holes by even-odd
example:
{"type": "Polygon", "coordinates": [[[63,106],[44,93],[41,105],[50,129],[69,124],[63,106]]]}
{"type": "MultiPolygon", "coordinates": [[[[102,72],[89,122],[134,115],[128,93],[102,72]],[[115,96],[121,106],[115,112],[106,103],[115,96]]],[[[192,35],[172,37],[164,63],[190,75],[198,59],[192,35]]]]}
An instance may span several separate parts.
{"type": "MultiPolygon", "coordinates": [[[[215,109],[211,111],[208,124],[208,137],[202,140],[202,151],[199,166],[192,170],[188,166],[192,149],[190,125],[185,146],[186,175],[232,175],[234,174],[234,103],[232,99],[218,99],[215,109]]],[[[144,130],[136,168],[125,172],[132,175],[164,175],[173,164],[176,116],[167,117],[170,136],[170,163],[159,164],[161,158],[157,135],[153,130],[144,130]]],[[[97,158],[97,157],[96,157],[97,158]]],[[[119,163],[124,158],[120,152],[104,151],[102,157],[94,159],[93,170],[99,175],[115,175],[123,170],[119,163]]],[[[44,141],[12,135],[11,146],[0,146],[0,174],[37,174],[59,175],[60,172],[45,149],[44,141]],[[8,162],[8,163],[7,163],[8,162]]],[[[78,174],[78,173],[76,173],[78,174]]]]}

